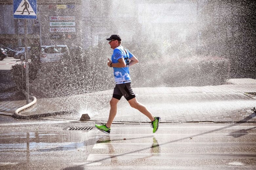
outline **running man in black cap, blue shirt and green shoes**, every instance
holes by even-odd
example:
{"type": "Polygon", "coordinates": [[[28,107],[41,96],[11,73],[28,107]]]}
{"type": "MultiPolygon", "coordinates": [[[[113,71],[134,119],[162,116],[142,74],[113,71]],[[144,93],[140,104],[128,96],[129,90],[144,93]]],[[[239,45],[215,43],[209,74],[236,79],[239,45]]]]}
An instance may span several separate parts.
{"type": "Polygon", "coordinates": [[[131,107],[139,110],[150,119],[153,133],[155,133],[159,127],[160,117],[154,117],[143,104],[139,103],[131,89],[129,67],[136,64],[138,59],[121,45],[121,37],[118,34],[111,35],[107,40],[110,48],[114,50],[111,60],[108,59],[107,64],[108,67],[113,67],[116,85],[110,100],[108,122],[95,125],[95,127],[104,133],[110,134],[110,127],[117,112],[117,103],[124,96],[131,107]]]}

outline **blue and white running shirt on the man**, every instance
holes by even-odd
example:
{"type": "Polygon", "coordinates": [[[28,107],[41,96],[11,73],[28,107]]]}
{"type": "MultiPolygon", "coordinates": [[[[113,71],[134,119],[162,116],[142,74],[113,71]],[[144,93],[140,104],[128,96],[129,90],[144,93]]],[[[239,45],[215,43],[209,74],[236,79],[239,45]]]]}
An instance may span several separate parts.
{"type": "Polygon", "coordinates": [[[113,67],[116,84],[131,82],[131,77],[129,72],[129,59],[132,57],[133,55],[127,49],[125,49],[122,45],[114,49],[111,57],[112,63],[118,63],[118,59],[121,59],[121,58],[124,58],[126,62],[126,67],[123,67],[123,68],[113,67]]]}

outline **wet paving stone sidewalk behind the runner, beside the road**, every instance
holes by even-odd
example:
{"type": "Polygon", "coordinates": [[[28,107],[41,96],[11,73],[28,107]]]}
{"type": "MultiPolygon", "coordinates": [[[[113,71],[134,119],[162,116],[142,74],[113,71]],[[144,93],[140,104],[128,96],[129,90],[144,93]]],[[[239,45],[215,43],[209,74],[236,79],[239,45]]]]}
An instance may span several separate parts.
{"type": "MultiPolygon", "coordinates": [[[[147,106],[162,122],[255,122],[256,115],[250,110],[256,107],[256,84],[226,84],[203,87],[156,87],[134,88],[139,102],[147,106]]],[[[51,116],[79,120],[88,113],[91,120],[106,121],[112,90],[73,95],[61,98],[38,99],[32,107],[21,111],[22,115],[77,110],[77,114],[51,116]]],[[[0,114],[13,113],[25,105],[25,100],[0,102],[0,114]]],[[[118,104],[115,122],[148,122],[139,111],[130,108],[122,98],[118,104]]]]}

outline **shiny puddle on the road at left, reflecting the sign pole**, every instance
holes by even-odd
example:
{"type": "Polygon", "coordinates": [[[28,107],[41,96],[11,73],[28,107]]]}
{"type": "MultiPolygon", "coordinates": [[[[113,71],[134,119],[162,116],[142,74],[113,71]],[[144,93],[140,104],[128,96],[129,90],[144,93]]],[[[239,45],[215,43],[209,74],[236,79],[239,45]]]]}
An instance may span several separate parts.
{"type": "Polygon", "coordinates": [[[60,134],[47,132],[11,132],[0,134],[0,151],[48,152],[86,148],[97,139],[85,132],[60,134]]]}

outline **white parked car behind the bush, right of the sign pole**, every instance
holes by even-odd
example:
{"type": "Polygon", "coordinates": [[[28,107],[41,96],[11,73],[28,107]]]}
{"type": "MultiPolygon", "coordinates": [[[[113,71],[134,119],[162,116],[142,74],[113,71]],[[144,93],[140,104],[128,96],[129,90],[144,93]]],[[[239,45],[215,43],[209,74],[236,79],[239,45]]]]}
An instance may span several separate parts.
{"type": "Polygon", "coordinates": [[[42,63],[58,61],[64,56],[69,56],[67,45],[44,46],[42,49],[42,55],[40,57],[42,63]]]}

